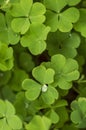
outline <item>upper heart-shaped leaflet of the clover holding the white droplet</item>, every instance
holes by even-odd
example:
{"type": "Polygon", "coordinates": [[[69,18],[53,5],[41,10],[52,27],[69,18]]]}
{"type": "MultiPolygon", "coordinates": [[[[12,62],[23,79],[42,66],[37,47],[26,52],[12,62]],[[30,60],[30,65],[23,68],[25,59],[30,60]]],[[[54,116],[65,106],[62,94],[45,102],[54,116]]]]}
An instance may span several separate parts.
{"type": "Polygon", "coordinates": [[[42,84],[50,84],[54,81],[54,70],[46,69],[44,66],[35,67],[32,71],[33,77],[42,84]]]}

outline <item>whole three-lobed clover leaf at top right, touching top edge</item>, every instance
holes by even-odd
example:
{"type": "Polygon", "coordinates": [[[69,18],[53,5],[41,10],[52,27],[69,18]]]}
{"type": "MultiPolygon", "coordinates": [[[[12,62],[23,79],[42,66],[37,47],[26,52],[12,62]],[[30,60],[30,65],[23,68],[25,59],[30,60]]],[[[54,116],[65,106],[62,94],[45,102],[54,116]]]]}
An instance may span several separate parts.
{"type": "Polygon", "coordinates": [[[46,25],[51,27],[51,32],[59,29],[61,32],[69,32],[73,28],[73,23],[79,19],[79,11],[75,7],[70,7],[64,11],[62,9],[68,4],[66,0],[44,0],[47,8],[46,25]]]}

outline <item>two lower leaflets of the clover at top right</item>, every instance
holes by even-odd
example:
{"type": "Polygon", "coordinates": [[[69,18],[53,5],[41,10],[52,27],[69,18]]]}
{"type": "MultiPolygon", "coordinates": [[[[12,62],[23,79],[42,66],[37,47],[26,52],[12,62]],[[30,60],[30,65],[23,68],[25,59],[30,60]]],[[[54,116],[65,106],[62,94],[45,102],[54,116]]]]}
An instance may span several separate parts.
{"type": "Polygon", "coordinates": [[[78,19],[79,10],[75,7],[68,8],[64,12],[47,11],[46,13],[46,25],[51,27],[51,32],[55,32],[57,29],[61,32],[69,32],[73,28],[73,23],[78,19]]]}

